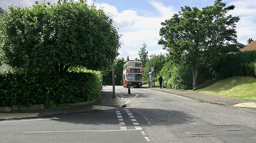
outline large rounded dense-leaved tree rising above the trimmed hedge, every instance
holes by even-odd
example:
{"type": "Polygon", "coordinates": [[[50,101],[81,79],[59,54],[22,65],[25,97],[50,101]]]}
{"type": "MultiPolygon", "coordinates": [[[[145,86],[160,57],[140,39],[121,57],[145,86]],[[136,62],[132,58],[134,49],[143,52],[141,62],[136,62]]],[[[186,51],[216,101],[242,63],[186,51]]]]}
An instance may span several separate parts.
{"type": "Polygon", "coordinates": [[[1,20],[0,43],[10,66],[60,73],[77,65],[99,70],[118,55],[120,36],[113,21],[86,1],[9,9],[1,20]]]}

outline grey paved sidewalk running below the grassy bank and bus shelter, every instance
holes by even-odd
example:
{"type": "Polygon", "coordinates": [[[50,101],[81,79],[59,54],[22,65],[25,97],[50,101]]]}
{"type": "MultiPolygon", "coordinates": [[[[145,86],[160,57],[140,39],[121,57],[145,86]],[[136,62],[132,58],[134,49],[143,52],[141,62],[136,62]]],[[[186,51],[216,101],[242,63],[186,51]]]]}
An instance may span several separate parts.
{"type": "Polygon", "coordinates": [[[205,93],[199,93],[194,91],[180,91],[168,88],[154,87],[148,88],[161,92],[171,93],[174,95],[179,95],[182,97],[187,97],[191,99],[197,99],[206,103],[219,104],[219,105],[228,105],[234,107],[246,107],[246,108],[256,108],[256,100],[249,99],[245,101],[244,99],[235,99],[232,97],[221,96],[221,95],[209,95],[205,93]]]}

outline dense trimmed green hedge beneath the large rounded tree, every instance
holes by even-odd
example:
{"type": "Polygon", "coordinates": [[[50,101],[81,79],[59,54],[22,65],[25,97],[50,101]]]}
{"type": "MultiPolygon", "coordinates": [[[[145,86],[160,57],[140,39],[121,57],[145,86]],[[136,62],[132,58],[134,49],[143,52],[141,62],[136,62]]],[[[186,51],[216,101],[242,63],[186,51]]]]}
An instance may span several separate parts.
{"type": "Polygon", "coordinates": [[[74,68],[65,75],[0,70],[0,106],[92,101],[101,95],[100,72],[74,68]]]}

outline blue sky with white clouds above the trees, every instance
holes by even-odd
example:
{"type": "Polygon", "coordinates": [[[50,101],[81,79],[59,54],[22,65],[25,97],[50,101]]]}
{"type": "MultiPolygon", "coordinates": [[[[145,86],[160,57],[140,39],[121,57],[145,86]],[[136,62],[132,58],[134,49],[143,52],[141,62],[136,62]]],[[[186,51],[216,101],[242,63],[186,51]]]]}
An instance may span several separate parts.
{"type": "MultiPolygon", "coordinates": [[[[38,0],[42,2],[43,0],[38,0]]],[[[55,3],[57,0],[45,0],[55,3]]],[[[148,56],[165,54],[166,50],[158,45],[161,22],[178,13],[180,7],[190,6],[202,9],[214,4],[214,0],[88,0],[89,4],[103,8],[114,24],[119,28],[121,48],[118,58],[130,60],[139,58],[138,51],[145,42],[148,56]]],[[[236,8],[228,14],[239,16],[236,25],[238,42],[246,45],[248,38],[256,40],[256,0],[223,0],[226,6],[236,8]]],[[[30,7],[34,0],[0,0],[0,7],[8,10],[8,6],[30,7]]],[[[150,57],[149,57],[150,58],[150,57]]]]}

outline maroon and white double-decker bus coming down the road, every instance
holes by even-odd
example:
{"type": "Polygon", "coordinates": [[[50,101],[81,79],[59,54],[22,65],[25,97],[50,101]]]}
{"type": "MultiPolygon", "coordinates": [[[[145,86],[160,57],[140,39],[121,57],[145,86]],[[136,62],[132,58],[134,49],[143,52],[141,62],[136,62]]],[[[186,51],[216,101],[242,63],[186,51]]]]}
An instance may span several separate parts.
{"type": "Polygon", "coordinates": [[[142,87],[142,62],[128,61],[123,67],[123,86],[142,87]]]}

